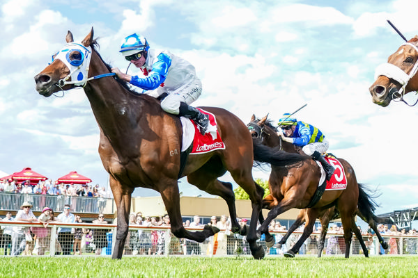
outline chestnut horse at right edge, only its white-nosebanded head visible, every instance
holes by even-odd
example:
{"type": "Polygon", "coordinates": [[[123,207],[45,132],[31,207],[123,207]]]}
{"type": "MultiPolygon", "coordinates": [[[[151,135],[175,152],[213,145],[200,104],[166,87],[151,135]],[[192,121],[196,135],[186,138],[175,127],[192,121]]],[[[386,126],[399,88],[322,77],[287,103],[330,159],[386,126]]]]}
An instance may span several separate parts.
{"type": "MultiPolygon", "coordinates": [[[[388,106],[394,101],[406,101],[405,94],[418,90],[418,36],[405,42],[389,56],[387,63],[376,68],[373,85],[369,88],[372,101],[380,106],[388,106]]],[[[417,101],[418,102],[418,101],[417,101]]],[[[415,102],[415,104],[417,104],[415,102]]],[[[408,104],[409,106],[414,106],[408,104]]]]}

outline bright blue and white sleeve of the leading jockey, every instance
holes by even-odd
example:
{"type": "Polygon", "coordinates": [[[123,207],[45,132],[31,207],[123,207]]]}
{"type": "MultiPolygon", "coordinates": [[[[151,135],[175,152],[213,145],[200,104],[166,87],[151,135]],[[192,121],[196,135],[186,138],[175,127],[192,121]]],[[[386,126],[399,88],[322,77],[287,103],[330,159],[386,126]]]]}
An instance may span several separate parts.
{"type": "Polygon", "coordinates": [[[153,69],[148,76],[144,78],[132,76],[130,83],[144,90],[155,90],[167,78],[170,65],[171,58],[167,54],[161,53],[157,56],[157,61],[153,63],[153,69]]]}

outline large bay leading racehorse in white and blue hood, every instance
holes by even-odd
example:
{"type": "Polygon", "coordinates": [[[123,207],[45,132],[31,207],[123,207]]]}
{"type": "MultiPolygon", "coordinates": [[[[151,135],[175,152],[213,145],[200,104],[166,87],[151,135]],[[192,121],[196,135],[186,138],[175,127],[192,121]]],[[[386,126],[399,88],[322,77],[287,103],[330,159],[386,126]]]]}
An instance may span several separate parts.
{"type": "Polygon", "coordinates": [[[231,216],[232,231],[248,234],[251,254],[262,259],[264,250],[256,243],[256,219],[261,218],[264,190],[251,174],[253,158],[286,165],[305,159],[302,156],[270,152],[253,142],[245,124],[222,108],[204,107],[214,114],[225,149],[188,156],[180,163],[182,126],[176,115],[160,108],[160,101],[130,90],[127,83],[112,77],[110,65],[98,53],[93,28],[82,42],[74,42],[72,33],[67,44],[53,56],[53,61],[35,76],[36,90],[44,97],[60,90],[84,86],[93,114],[100,128],[99,154],[117,208],[117,233],[113,259],[121,259],[128,232],[131,195],[136,187],[159,192],[171,221],[171,231],[178,238],[203,242],[219,231],[206,225],[203,231],[187,231],[180,213],[178,179],[187,176],[189,183],[225,199],[231,216]],[[254,154],[255,150],[258,150],[254,154]],[[252,214],[249,225],[240,228],[235,212],[232,184],[219,181],[226,171],[249,194],[252,214]]]}

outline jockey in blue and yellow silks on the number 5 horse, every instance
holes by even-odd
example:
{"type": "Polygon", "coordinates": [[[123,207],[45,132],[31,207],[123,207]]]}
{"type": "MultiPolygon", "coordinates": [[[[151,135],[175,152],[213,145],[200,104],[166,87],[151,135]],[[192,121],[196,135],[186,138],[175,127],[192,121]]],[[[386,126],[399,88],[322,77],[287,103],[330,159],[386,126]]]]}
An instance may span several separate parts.
{"type": "Polygon", "coordinates": [[[319,129],[306,122],[297,121],[295,118],[289,117],[289,113],[284,113],[279,120],[281,130],[277,131],[277,135],[286,142],[302,147],[302,151],[319,161],[323,165],[327,181],[334,174],[335,168],[328,163],[322,154],[327,152],[330,143],[319,129]]]}

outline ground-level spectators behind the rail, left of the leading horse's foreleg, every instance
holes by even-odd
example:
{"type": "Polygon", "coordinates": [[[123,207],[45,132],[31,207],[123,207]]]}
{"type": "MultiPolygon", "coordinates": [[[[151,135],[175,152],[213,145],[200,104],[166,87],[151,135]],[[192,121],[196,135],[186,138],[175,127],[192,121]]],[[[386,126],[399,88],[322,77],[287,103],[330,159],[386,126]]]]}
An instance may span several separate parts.
{"type": "MultiPolygon", "coordinates": [[[[70,212],[70,205],[65,205],[62,213],[54,215],[52,208],[45,207],[38,218],[31,211],[32,205],[24,202],[17,211],[15,218],[12,213],[7,212],[3,222],[21,221],[29,223],[42,223],[31,227],[10,226],[1,224],[1,244],[4,255],[44,255],[50,250],[51,229],[49,223],[83,223],[79,215],[70,212]]],[[[93,220],[94,224],[107,224],[104,215],[99,213],[98,219],[93,220]]],[[[83,252],[102,254],[103,248],[107,247],[107,232],[109,229],[88,229],[82,227],[59,227],[56,230],[55,254],[70,255],[82,254],[83,252]]]]}

